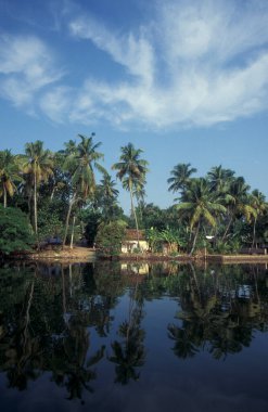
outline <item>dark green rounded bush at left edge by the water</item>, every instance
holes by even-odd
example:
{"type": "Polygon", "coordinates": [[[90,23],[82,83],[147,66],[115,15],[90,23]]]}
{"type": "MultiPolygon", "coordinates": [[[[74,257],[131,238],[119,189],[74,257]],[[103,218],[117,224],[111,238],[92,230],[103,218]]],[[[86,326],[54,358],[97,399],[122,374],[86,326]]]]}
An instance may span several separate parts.
{"type": "Polygon", "coordinates": [[[0,205],[0,254],[10,255],[30,250],[35,236],[27,216],[13,207],[0,205]]]}

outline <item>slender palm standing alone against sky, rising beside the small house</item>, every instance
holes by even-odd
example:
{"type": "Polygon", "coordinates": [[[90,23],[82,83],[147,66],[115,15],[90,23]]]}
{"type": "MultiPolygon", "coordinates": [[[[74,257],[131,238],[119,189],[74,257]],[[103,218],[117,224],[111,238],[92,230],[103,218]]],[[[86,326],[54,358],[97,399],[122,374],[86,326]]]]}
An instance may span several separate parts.
{"type": "Polygon", "coordinates": [[[133,193],[139,193],[145,184],[145,175],[148,172],[148,162],[140,158],[143,151],[135,149],[132,143],[122,146],[122,155],[118,163],[112,166],[112,169],[118,170],[116,177],[120,179],[123,188],[130,193],[131,213],[135,217],[137,240],[139,246],[139,227],[136,209],[133,206],[133,193]]]}

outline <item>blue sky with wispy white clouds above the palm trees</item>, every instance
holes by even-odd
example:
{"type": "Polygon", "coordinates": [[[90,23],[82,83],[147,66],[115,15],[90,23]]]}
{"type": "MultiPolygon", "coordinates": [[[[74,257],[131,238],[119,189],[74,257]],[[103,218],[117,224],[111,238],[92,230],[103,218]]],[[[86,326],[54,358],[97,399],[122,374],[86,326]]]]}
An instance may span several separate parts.
{"type": "Polygon", "coordinates": [[[179,163],[268,196],[268,1],[0,0],[0,150],[92,132],[113,178],[143,150],[146,203],[173,204],[179,163]]]}

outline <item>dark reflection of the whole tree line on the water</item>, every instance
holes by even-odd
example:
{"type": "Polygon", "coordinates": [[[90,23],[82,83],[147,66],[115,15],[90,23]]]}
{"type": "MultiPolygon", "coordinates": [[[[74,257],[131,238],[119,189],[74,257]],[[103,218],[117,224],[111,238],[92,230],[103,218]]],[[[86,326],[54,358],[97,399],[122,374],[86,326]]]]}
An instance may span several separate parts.
{"type": "Polygon", "coordinates": [[[115,365],[115,383],[142,378],[151,349],[145,333],[154,345],[152,326],[143,326],[144,305],[154,310],[161,299],[178,305],[175,322],[162,318],[158,339],[164,343],[167,331],[180,359],[204,351],[225,359],[250,346],[256,331],[268,329],[267,271],[257,266],[157,263],[142,274],[139,266],[124,271],[110,263],[5,266],[0,268],[0,371],[7,386],[27,389],[47,373],[64,397],[84,402],[103,379],[100,364],[105,371],[115,365]],[[126,319],[111,344],[115,308],[124,296],[126,319]]]}

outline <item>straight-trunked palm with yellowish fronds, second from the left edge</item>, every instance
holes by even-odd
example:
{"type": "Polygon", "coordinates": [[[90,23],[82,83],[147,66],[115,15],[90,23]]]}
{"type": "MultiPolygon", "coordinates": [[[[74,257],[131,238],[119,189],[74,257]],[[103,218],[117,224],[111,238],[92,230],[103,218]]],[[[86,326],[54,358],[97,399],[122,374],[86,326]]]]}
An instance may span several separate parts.
{"type": "Polygon", "coordinates": [[[29,179],[34,197],[34,230],[38,233],[37,223],[37,189],[41,181],[47,181],[53,175],[53,160],[49,150],[43,150],[43,142],[37,140],[25,145],[26,162],[23,171],[29,179]]]}

